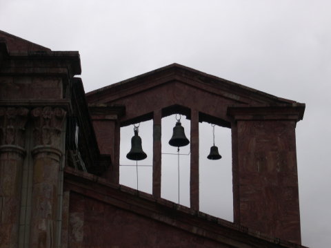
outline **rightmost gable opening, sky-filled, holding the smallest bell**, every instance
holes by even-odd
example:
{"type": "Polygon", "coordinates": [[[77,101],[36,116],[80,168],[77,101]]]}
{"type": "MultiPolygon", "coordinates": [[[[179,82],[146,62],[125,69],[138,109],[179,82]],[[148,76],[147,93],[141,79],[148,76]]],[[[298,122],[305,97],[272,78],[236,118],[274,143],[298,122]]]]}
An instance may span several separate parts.
{"type": "Polygon", "coordinates": [[[215,125],[214,140],[220,160],[208,160],[213,128],[210,123],[199,123],[199,209],[233,221],[231,129],[215,125]]]}

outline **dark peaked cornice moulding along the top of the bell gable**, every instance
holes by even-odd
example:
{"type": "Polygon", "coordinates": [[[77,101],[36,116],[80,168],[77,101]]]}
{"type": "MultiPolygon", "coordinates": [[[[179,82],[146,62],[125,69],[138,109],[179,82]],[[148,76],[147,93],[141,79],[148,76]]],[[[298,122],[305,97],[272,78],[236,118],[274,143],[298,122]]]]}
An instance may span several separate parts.
{"type": "Polygon", "coordinates": [[[294,101],[263,93],[262,91],[231,82],[229,80],[203,73],[199,70],[170,64],[157,70],[152,70],[137,77],[126,79],[117,84],[111,84],[86,94],[90,103],[110,103],[121,97],[139,94],[161,84],[181,82],[200,90],[233,99],[238,104],[292,104],[294,101]]]}

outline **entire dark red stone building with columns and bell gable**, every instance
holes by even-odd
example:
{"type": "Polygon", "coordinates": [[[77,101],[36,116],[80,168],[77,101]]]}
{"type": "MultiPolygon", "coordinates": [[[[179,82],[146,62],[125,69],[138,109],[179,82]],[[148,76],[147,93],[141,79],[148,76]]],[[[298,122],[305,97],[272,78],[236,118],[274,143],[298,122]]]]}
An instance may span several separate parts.
{"type": "Polygon", "coordinates": [[[0,247],[302,247],[305,105],[172,64],[85,95],[79,53],[0,31],[0,247]],[[139,102],[139,106],[137,103],[139,102]],[[191,120],[190,208],[161,198],[161,118],[191,120]],[[153,120],[152,195],[119,184],[121,126],[153,120]],[[199,211],[199,122],[232,131],[234,223],[199,211]]]}

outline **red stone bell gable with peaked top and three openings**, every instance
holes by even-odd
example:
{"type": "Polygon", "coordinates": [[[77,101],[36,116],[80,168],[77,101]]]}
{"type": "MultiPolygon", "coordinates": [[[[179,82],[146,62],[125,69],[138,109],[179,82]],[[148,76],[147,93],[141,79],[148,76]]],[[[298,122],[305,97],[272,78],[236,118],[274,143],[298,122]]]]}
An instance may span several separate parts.
{"type": "MultiPolygon", "coordinates": [[[[161,118],[185,115],[191,121],[190,208],[199,211],[199,122],[231,128],[234,222],[301,242],[295,126],[303,118],[305,104],[179,64],[86,97],[99,149],[112,157],[103,177],[119,183],[119,128],[153,120],[152,194],[161,198],[161,118]]],[[[180,146],[176,142],[180,128],[174,127],[170,145],[180,146]]]]}

